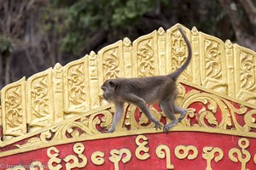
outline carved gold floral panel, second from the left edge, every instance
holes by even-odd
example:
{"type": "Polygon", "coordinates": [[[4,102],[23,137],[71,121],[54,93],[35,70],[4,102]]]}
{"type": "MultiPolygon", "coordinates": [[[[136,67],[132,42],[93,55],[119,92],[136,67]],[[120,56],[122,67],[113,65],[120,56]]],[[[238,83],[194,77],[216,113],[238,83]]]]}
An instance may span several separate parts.
{"type": "Polygon", "coordinates": [[[52,70],[38,73],[27,80],[28,94],[27,107],[30,130],[45,127],[53,123],[54,102],[52,93],[52,70]]]}

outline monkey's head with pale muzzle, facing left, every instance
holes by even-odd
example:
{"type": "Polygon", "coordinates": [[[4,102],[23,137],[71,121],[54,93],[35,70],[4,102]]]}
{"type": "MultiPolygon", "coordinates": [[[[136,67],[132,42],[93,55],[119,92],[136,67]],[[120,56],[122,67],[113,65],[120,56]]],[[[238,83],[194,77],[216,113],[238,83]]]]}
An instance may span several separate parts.
{"type": "Polygon", "coordinates": [[[102,90],[103,90],[103,98],[106,99],[108,102],[113,101],[115,97],[115,88],[116,88],[116,83],[114,80],[106,80],[102,84],[102,90]]]}

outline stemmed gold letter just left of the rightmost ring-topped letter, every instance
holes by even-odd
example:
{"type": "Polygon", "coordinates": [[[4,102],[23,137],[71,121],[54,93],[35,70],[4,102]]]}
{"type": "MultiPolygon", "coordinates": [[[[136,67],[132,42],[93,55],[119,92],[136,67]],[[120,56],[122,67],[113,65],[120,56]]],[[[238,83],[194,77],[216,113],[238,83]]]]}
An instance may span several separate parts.
{"type": "Polygon", "coordinates": [[[207,160],[207,168],[206,168],[207,170],[212,170],[211,162],[213,158],[215,162],[218,162],[223,158],[223,156],[224,156],[224,152],[219,148],[212,148],[212,146],[203,148],[202,157],[205,160],[207,160]],[[215,153],[218,153],[218,156],[215,156],[215,153]]]}

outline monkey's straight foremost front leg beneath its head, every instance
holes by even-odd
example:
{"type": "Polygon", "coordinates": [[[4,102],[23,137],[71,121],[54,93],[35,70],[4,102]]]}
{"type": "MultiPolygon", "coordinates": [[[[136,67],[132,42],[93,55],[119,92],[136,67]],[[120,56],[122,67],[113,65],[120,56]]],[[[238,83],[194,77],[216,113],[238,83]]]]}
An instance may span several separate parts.
{"type": "Polygon", "coordinates": [[[119,124],[120,119],[124,113],[124,103],[123,102],[116,102],[115,105],[115,113],[113,115],[113,123],[112,126],[106,131],[106,133],[113,133],[116,126],[119,124]]]}

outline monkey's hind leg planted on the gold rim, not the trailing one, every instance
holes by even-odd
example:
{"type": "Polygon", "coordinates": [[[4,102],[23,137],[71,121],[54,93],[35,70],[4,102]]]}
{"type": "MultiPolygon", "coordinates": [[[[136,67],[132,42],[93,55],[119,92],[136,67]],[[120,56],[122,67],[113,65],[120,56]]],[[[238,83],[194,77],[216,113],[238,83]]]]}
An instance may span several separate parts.
{"type": "Polygon", "coordinates": [[[164,111],[164,113],[166,114],[167,118],[172,121],[171,123],[166,124],[164,126],[164,132],[169,133],[170,128],[171,127],[175,127],[177,125],[177,122],[178,122],[176,117],[174,116],[174,111],[173,111],[172,105],[170,105],[170,101],[168,101],[168,102],[165,102],[165,101],[160,102],[160,109],[162,111],[164,111]]]}

